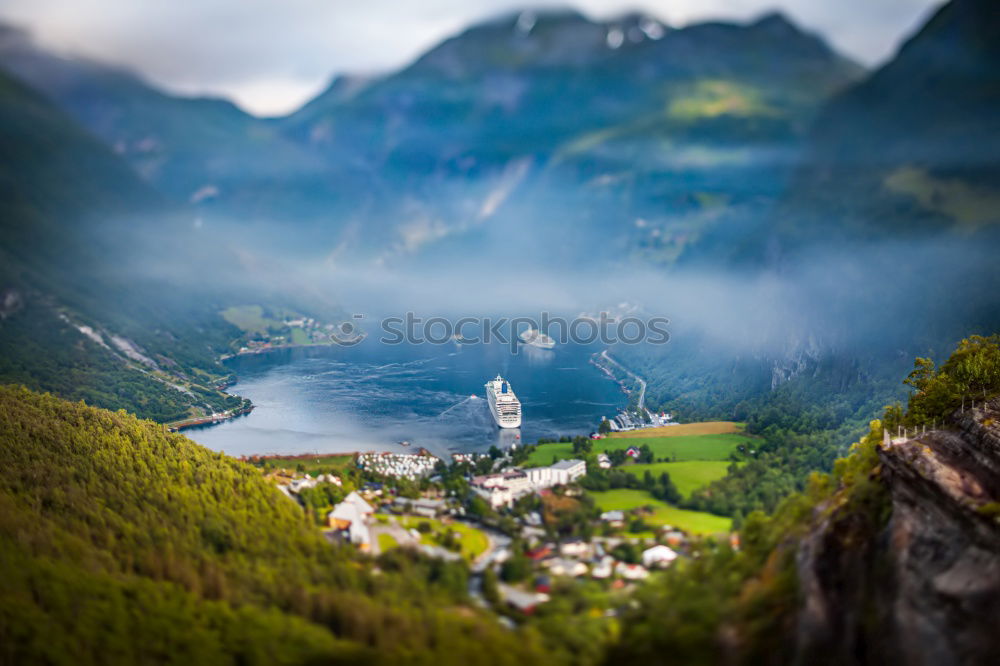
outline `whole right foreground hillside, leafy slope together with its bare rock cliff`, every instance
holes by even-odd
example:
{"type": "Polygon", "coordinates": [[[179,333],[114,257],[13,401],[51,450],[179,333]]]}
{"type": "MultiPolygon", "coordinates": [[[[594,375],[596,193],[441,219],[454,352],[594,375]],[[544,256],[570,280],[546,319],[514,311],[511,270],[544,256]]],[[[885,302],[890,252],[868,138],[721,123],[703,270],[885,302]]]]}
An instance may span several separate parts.
{"type": "Polygon", "coordinates": [[[608,663],[991,663],[1000,336],[917,359],[907,383],[908,408],[887,407],[830,474],[748,515],[738,551],[707,543],[648,588],[608,663]]]}

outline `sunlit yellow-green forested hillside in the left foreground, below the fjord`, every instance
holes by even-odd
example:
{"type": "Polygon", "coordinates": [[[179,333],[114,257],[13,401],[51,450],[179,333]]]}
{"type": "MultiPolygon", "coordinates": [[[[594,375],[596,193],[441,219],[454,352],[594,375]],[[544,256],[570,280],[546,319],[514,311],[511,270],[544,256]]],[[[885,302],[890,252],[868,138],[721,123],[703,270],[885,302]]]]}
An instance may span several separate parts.
{"type": "Polygon", "coordinates": [[[537,638],[464,565],[338,550],[259,471],[124,413],[0,387],[0,662],[495,663],[537,638]]]}

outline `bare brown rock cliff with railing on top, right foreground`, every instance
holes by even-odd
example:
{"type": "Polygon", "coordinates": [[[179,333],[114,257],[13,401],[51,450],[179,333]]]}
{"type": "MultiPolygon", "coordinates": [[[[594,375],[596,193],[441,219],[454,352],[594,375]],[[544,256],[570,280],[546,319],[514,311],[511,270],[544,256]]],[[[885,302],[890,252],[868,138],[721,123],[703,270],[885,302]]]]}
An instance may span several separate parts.
{"type": "Polygon", "coordinates": [[[827,507],[801,544],[795,661],[996,663],[1000,400],[886,433],[878,458],[884,492],[827,507]]]}

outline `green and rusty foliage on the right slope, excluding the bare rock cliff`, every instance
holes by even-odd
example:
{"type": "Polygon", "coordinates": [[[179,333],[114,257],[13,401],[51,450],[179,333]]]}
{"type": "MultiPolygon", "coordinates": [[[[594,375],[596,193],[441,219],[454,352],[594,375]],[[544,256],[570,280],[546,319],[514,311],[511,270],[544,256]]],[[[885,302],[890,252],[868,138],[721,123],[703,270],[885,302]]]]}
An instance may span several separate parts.
{"type": "MultiPolygon", "coordinates": [[[[750,512],[738,551],[712,541],[694,544],[697,557],[667,571],[662,584],[640,592],[639,607],[623,618],[623,633],[608,663],[644,663],[667,651],[681,663],[788,661],[801,603],[796,556],[803,539],[824,530],[838,534],[842,548],[858,548],[884,535],[892,501],[880,476],[883,429],[950,413],[951,391],[958,386],[989,395],[996,386],[996,352],[995,336],[974,337],[960,343],[940,369],[918,359],[909,382],[918,392],[907,413],[898,404],[887,406],[883,419],[868,424],[831,474],[809,474],[802,492],[778,502],[770,516],[750,512]],[[938,402],[941,394],[949,395],[948,401],[938,402]],[[735,654],[734,645],[739,646],[735,654]]],[[[996,512],[994,505],[984,511],[996,512]]]]}

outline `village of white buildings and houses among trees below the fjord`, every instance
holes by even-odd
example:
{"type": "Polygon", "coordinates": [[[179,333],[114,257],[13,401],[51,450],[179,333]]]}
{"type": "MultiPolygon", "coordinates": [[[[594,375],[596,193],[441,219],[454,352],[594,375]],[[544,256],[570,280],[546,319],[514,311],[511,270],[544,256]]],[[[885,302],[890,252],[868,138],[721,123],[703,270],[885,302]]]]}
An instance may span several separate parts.
{"type": "MultiPolygon", "coordinates": [[[[473,596],[516,618],[573,581],[631,593],[703,543],[704,534],[681,526],[646,524],[650,507],[596,506],[593,496],[600,493],[585,487],[616,468],[634,463],[638,469],[648,447],[595,452],[593,443],[578,437],[505,452],[494,447],[448,461],[420,449],[255,464],[331,543],[373,557],[402,548],[464,562],[473,596]],[[581,455],[537,464],[541,455],[561,450],[581,455]]],[[[738,546],[728,530],[716,536],[738,546]]]]}

